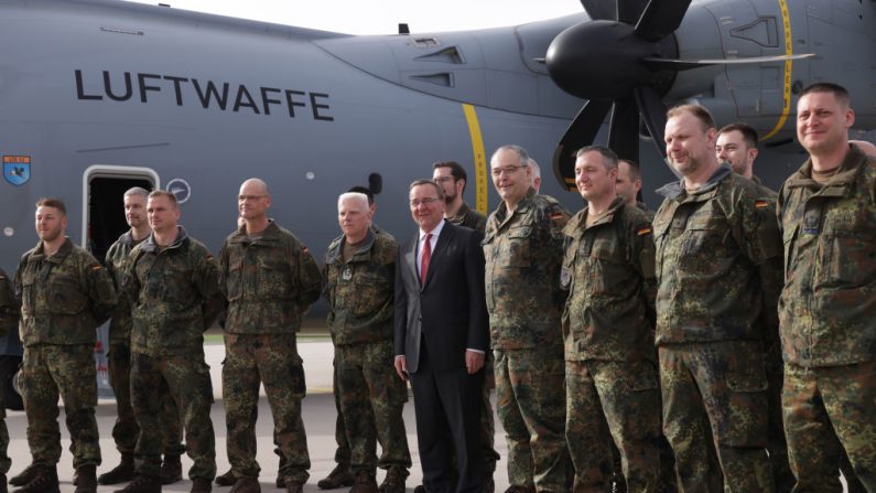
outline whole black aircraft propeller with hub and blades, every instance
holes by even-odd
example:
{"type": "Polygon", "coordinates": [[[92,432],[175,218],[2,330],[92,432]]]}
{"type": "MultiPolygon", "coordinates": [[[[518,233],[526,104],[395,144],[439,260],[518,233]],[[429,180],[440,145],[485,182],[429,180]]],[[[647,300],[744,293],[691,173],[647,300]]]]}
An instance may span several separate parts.
{"type": "Polygon", "coordinates": [[[765,63],[813,56],[779,55],[729,60],[677,60],[674,31],[691,0],[581,0],[591,21],[561,32],[548,49],[553,82],[587,99],[553,156],[554,175],[575,190],[572,153],[594,142],[610,111],[608,147],[618,157],[639,159],[639,118],[661,156],[664,96],[679,71],[715,64],[765,63]]]}

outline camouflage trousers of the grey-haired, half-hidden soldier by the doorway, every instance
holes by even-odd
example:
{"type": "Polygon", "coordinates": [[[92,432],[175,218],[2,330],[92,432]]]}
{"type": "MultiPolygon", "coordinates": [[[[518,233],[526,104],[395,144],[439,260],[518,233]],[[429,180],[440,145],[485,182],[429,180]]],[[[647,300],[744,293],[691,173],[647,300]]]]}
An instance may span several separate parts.
{"type": "MultiPolygon", "coordinates": [[[[131,407],[131,346],[111,345],[107,354],[109,385],[116,396],[116,424],[112,426],[112,439],[121,453],[133,453],[140,427],[133,417],[131,407]]],[[[182,456],[183,429],[180,421],[180,409],[170,394],[162,398],[161,433],[164,456],[182,456]]]]}

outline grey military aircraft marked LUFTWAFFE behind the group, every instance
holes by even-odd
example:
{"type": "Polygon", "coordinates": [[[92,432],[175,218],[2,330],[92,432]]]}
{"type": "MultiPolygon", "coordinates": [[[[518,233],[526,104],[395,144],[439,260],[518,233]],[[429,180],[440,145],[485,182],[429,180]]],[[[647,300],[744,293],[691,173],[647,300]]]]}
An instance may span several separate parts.
{"type": "Polygon", "coordinates": [[[469,202],[491,208],[487,160],[504,143],[552,162],[542,192],[570,210],[570,153],[594,140],[639,158],[653,190],[674,176],[661,146],[639,142],[659,144],[677,101],[758,128],[757,173],[774,186],[802,159],[807,84],[845,85],[858,128],[876,127],[875,0],[582,4],[517,26],[353,36],[120,0],[2,0],[0,266],[35,244],[41,196],[66,201],[68,234],[102,258],[126,229],[122,192],[169,189],[215,251],[238,185],[260,176],[318,257],[352,185],[379,192],[379,224],[407,235],[408,184],[434,161],[464,163],[469,202]]]}

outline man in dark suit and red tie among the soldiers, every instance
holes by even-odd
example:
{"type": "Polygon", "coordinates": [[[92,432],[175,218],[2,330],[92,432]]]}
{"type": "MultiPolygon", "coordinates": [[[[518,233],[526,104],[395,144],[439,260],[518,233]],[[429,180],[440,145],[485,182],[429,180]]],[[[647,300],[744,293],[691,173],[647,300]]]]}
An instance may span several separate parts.
{"type": "Polygon", "coordinates": [[[480,233],[444,221],[443,195],[430,180],[410,186],[419,232],[397,262],[396,372],[411,378],[426,492],[479,493],[479,396],[489,337],[484,251],[480,233]]]}

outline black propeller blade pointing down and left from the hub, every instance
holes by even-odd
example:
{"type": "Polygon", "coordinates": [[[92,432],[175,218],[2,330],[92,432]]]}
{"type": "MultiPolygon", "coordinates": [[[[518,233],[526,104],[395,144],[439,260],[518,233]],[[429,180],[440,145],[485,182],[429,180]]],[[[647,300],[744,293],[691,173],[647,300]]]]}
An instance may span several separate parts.
{"type": "Polygon", "coordinates": [[[575,190],[575,157],[572,153],[593,143],[610,108],[612,101],[588,100],[560,139],[553,152],[553,174],[560,186],[575,190]]]}

